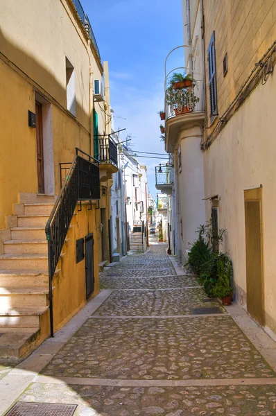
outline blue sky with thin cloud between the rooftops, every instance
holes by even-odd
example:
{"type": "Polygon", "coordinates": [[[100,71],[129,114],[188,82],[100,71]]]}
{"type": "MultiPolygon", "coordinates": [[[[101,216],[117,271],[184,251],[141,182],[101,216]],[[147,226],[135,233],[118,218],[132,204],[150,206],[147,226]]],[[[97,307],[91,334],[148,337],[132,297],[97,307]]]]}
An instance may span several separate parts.
{"type": "MultiPolygon", "coordinates": [[[[134,151],[165,153],[157,112],[164,108],[164,60],[183,44],[181,0],[81,0],[102,60],[109,62],[110,100],[115,128],[126,128],[134,151]],[[120,117],[120,118],[119,118],[120,117]]],[[[121,135],[126,139],[126,134],[121,135]]],[[[154,166],[148,189],[156,196],[154,166]]]]}

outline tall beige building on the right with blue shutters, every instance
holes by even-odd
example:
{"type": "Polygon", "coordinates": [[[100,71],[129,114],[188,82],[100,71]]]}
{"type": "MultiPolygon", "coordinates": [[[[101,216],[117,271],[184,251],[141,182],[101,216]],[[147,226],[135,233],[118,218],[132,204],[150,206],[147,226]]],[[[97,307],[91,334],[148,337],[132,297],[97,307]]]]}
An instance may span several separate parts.
{"type": "Polygon", "coordinates": [[[175,114],[168,108],[166,113],[166,150],[175,156],[179,258],[184,264],[187,241],[212,216],[227,229],[221,250],[233,262],[236,301],[273,334],[276,1],[182,5],[179,66],[193,74],[196,87],[190,107],[178,101],[175,114]]]}

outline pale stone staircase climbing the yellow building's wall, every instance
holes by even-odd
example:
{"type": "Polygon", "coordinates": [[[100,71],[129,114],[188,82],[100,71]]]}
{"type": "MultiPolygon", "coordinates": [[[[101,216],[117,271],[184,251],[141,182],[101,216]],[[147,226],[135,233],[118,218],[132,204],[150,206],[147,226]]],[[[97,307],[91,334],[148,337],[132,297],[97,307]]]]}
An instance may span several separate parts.
{"type": "Polygon", "coordinates": [[[45,225],[54,197],[38,201],[17,205],[17,227],[0,255],[0,362],[21,361],[49,336],[45,225]]]}

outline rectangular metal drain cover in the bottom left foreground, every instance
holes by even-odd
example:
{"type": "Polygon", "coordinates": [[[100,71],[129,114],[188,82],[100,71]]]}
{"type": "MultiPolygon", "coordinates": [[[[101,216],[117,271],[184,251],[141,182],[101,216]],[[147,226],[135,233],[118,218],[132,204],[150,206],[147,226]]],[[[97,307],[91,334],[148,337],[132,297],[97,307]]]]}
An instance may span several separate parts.
{"type": "Polygon", "coordinates": [[[77,404],[26,403],[17,401],[6,416],[72,416],[77,404]]]}

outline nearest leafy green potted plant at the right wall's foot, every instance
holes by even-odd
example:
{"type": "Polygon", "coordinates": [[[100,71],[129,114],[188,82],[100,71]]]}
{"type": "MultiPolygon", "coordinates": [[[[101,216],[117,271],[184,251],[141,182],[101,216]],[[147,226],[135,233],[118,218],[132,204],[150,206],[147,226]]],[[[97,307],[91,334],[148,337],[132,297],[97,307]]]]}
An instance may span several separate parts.
{"type": "Polygon", "coordinates": [[[217,280],[212,295],[221,299],[223,305],[230,305],[233,289],[230,287],[232,263],[227,253],[217,254],[217,280]]]}

